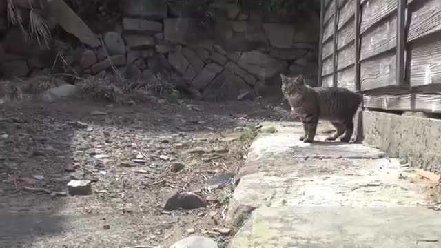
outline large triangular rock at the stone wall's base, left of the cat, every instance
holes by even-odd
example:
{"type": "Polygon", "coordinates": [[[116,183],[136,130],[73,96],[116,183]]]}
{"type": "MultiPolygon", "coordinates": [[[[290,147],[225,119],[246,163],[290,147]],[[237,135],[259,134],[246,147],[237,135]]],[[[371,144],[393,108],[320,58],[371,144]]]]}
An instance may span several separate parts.
{"type": "Polygon", "coordinates": [[[238,95],[246,90],[249,90],[249,86],[243,79],[235,76],[229,70],[223,70],[205,88],[203,97],[207,101],[236,100],[238,95]]]}

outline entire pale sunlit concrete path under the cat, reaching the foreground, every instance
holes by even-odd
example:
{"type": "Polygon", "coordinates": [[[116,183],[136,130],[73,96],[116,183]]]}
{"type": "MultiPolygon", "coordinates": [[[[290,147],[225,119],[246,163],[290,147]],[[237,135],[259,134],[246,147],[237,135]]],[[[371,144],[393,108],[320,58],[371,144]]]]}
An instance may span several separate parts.
{"type": "MultiPolygon", "coordinates": [[[[227,221],[230,248],[441,247],[441,215],[424,180],[361,144],[298,141],[300,123],[265,123],[252,144],[227,221]]],[[[323,131],[323,126],[319,127],[323,131]]]]}

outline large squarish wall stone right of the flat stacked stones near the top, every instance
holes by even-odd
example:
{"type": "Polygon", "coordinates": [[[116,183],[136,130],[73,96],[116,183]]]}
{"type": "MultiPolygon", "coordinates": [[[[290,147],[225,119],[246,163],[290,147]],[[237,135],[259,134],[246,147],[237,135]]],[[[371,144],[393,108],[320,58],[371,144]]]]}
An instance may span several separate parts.
{"type": "Polygon", "coordinates": [[[193,18],[169,18],[164,20],[164,39],[172,43],[192,45],[205,39],[205,30],[193,18]]]}

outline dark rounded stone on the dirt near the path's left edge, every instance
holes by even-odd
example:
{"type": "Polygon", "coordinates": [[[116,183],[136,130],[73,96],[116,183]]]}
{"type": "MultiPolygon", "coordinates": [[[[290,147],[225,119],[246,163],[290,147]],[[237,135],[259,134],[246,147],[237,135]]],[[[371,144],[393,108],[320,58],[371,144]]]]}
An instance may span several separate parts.
{"type": "Polygon", "coordinates": [[[201,207],[207,207],[208,202],[201,196],[192,192],[176,193],[170,197],[165,203],[164,210],[172,211],[176,209],[198,209],[201,207]]]}

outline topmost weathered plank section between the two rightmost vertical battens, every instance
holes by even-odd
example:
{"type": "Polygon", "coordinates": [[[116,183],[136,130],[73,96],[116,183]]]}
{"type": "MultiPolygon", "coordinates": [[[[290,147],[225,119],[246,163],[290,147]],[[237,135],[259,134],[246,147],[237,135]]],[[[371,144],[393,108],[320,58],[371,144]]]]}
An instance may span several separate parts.
{"type": "Polygon", "coordinates": [[[362,6],[360,34],[395,12],[398,0],[367,0],[362,6]]]}

